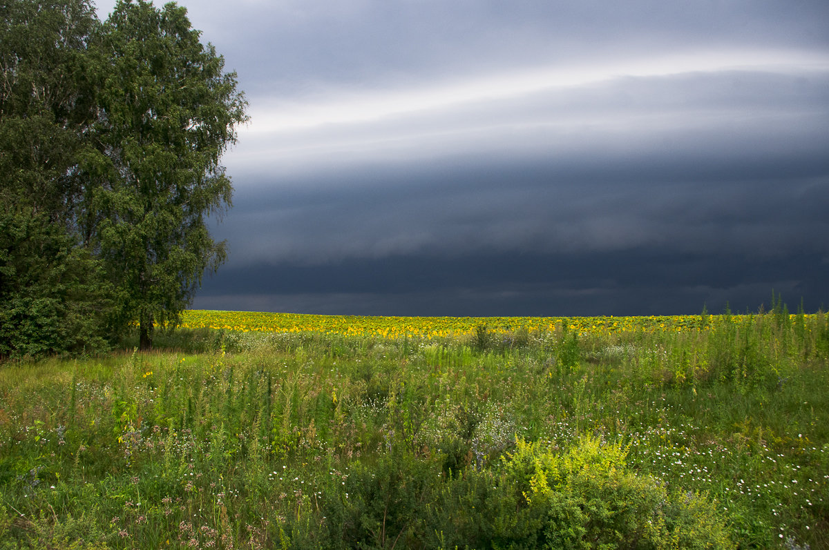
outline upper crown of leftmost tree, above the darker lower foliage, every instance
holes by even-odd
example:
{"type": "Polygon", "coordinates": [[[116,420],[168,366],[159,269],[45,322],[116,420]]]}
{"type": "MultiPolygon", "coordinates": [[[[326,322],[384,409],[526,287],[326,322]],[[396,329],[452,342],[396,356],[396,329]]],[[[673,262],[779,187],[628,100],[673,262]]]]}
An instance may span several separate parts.
{"type": "Polygon", "coordinates": [[[86,63],[99,22],[85,0],[12,0],[0,17],[0,199],[71,228],[96,116],[86,63]]]}

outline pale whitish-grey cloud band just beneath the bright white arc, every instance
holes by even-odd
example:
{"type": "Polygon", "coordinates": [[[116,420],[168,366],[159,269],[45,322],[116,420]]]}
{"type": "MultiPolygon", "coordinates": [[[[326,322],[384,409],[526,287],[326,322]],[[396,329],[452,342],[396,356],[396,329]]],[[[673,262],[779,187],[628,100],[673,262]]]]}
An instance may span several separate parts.
{"type": "MultiPolygon", "coordinates": [[[[827,73],[752,72],[625,78],[378,121],[242,135],[227,158],[240,175],[334,173],[361,162],[436,162],[444,157],[643,155],[820,156],[829,122],[827,73]]],[[[719,158],[718,158],[719,157],[719,158]]],[[[599,159],[601,160],[601,158],[599,159]]],[[[788,166],[786,166],[788,169],[788,166]]],[[[280,181],[283,180],[283,181],[280,181]]],[[[330,181],[336,182],[332,176],[330,181]]]]}

